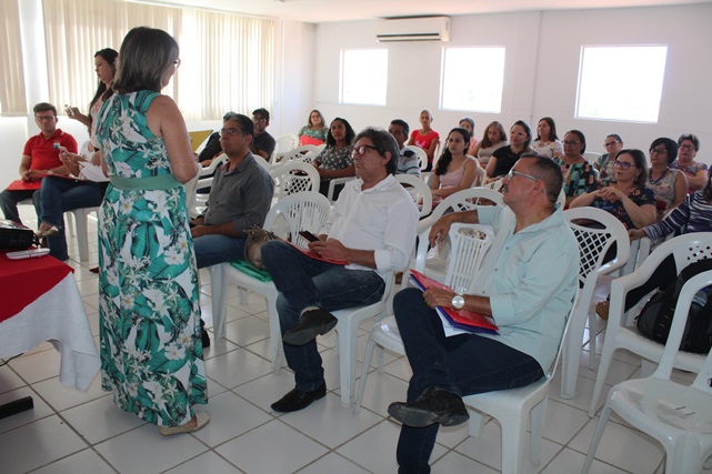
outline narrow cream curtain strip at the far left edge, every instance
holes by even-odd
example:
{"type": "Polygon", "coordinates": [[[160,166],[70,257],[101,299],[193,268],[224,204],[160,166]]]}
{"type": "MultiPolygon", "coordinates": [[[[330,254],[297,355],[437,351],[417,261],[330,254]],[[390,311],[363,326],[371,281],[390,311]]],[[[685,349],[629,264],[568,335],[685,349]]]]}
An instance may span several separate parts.
{"type": "Polygon", "coordinates": [[[27,101],[18,0],[0,0],[0,21],[4,24],[0,29],[0,112],[4,115],[24,115],[27,101]]]}

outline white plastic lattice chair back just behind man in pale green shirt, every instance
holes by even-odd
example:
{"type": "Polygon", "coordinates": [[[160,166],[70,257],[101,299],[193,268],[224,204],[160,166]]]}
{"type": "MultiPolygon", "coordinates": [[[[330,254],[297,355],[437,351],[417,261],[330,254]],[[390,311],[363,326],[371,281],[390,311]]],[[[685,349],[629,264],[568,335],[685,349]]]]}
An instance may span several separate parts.
{"type": "Polygon", "coordinates": [[[588,276],[595,272],[590,283],[594,284],[599,274],[612,272],[628,262],[631,253],[628,231],[613,214],[596,208],[574,208],[563,211],[563,216],[579,243],[580,283],[585,284],[588,276]],[[615,258],[604,262],[613,244],[615,258]]]}

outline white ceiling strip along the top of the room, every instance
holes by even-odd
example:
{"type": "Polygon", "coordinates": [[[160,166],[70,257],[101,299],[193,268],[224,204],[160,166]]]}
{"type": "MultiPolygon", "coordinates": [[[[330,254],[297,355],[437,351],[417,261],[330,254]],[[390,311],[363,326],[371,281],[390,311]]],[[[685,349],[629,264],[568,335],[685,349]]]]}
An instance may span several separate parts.
{"type": "Polygon", "coordinates": [[[322,23],[428,14],[581,10],[708,3],[710,0],[142,0],[322,23]]]}

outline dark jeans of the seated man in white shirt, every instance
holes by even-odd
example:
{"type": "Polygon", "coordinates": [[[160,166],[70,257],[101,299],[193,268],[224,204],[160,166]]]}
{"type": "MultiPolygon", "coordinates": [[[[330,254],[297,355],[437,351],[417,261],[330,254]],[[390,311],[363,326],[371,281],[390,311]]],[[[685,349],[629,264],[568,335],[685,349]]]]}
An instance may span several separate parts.
{"type": "MultiPolygon", "coordinates": [[[[383,279],[369,270],[347,270],[342,265],[311,259],[291,245],[269,241],[262,246],[262,263],[280,292],[277,311],[282,334],[299,323],[302,311],[319,306],[327,311],[373,304],[385,290],[383,279]]],[[[324,380],[317,341],[305,345],[283,344],[297,389],[310,392],[324,380]]]]}

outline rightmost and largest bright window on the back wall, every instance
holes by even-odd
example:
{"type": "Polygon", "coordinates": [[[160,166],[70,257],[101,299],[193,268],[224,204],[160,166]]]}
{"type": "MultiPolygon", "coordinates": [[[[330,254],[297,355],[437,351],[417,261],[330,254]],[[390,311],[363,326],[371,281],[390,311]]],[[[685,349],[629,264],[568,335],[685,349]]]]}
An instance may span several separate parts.
{"type": "Polygon", "coordinates": [[[666,46],[583,47],[576,118],[656,123],[666,57],[666,46]]]}

